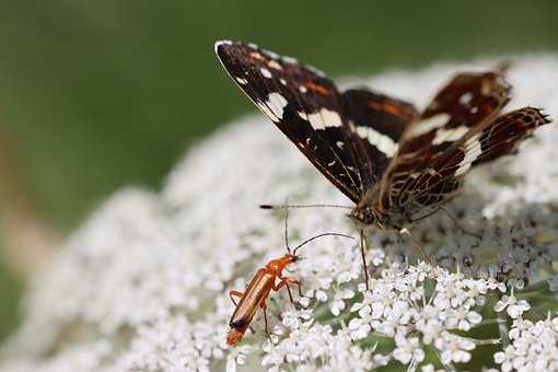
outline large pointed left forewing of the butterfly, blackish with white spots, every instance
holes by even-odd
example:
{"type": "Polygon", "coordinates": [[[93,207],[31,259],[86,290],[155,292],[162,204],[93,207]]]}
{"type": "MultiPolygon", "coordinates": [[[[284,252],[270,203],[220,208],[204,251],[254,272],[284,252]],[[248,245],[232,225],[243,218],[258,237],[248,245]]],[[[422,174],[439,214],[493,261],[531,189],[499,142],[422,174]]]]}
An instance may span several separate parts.
{"type": "Polygon", "coordinates": [[[216,53],[246,95],[337,188],[363,193],[345,133],[342,97],[321,71],[253,44],[219,42],[216,53]]]}

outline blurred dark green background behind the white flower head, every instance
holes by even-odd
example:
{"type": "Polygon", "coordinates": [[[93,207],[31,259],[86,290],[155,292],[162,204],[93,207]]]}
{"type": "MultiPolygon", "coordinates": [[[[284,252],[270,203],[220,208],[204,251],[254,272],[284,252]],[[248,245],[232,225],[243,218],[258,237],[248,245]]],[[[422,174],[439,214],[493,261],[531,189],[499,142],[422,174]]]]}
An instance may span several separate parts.
{"type": "MultiPolygon", "coordinates": [[[[158,189],[188,146],[254,111],[217,61],[217,39],[335,77],[556,50],[557,14],[554,0],[1,1],[0,212],[24,209],[63,236],[123,185],[158,189]]],[[[33,267],[0,257],[1,339],[33,267]]]]}

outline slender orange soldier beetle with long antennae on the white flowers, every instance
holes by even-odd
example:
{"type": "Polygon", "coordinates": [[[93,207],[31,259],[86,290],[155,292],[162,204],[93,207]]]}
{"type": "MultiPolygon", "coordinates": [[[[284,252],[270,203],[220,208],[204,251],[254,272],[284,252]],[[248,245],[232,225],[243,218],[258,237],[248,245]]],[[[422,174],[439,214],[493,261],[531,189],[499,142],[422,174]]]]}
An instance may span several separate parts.
{"type": "Polygon", "coordinates": [[[291,289],[289,284],[294,284],[299,289],[299,295],[302,298],[302,289],[300,280],[283,277],[282,270],[292,263],[295,263],[299,258],[297,256],[297,251],[300,249],[304,244],[312,242],[315,239],[322,236],[344,236],[353,239],[352,236],[338,234],[338,233],[323,233],[311,239],[305,240],[301,244],[299,244],[294,249],[289,247],[289,239],[288,239],[288,226],[287,226],[287,216],[284,219],[284,243],[287,247],[287,253],[279,258],[271,259],[267,265],[256,271],[256,275],[252,278],[251,282],[244,290],[244,292],[230,290],[229,297],[231,301],[236,306],[234,309],[231,321],[229,322],[229,333],[226,334],[226,344],[235,345],[243,337],[246,329],[249,327],[256,311],[259,309],[264,312],[264,324],[265,332],[269,336],[269,330],[267,328],[267,304],[266,300],[269,297],[271,290],[279,291],[282,287],[287,288],[287,292],[289,293],[290,301],[294,304],[294,300],[292,299],[291,289]],[[276,283],[277,279],[279,282],[276,283]],[[239,303],[234,301],[234,298],[240,298],[239,303]]]}

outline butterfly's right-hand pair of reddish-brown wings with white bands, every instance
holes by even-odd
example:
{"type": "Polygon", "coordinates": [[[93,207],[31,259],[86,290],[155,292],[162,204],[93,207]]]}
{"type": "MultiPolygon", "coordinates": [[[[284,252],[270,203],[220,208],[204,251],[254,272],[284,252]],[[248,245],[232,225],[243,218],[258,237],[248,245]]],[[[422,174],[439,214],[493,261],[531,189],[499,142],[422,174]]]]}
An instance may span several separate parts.
{"type": "Polygon", "coordinates": [[[498,73],[457,75],[403,135],[386,174],[384,206],[425,214],[446,202],[472,167],[512,153],[549,123],[533,107],[497,116],[509,92],[498,73]]]}

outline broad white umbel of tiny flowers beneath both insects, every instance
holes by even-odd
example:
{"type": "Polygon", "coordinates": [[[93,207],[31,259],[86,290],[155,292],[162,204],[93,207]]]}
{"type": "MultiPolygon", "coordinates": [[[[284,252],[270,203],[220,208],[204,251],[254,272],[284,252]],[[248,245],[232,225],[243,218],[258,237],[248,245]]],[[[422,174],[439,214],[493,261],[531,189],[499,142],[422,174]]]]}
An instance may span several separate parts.
{"type": "MultiPolygon", "coordinates": [[[[479,61],[474,68],[486,68],[479,61]]],[[[470,66],[388,72],[371,85],[425,104],[470,66]]],[[[518,58],[511,107],[558,118],[558,57],[518,58]]],[[[484,367],[558,370],[558,129],[548,125],[514,158],[472,172],[447,217],[412,231],[412,244],[371,233],[370,291],[357,241],[324,237],[287,276],[304,298],[268,299],[270,340],[257,316],[225,344],[226,291],[284,253],[283,217],[258,204],[349,202],[260,116],[232,124],[190,151],[160,194],[112,197],[40,274],[0,371],[434,371],[484,367]],[[241,143],[242,146],[239,146],[241,143]],[[473,367],[472,367],[473,365],[473,367]]],[[[339,209],[292,210],[291,245],[322,232],[356,234],[339,209]]]]}

